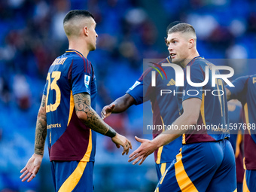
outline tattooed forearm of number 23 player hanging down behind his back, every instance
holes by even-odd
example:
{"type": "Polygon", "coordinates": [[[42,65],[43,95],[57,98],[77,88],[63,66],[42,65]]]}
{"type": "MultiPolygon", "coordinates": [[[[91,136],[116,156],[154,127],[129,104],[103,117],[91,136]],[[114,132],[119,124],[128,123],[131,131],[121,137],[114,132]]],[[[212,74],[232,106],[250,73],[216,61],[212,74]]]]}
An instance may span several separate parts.
{"type": "Polygon", "coordinates": [[[41,155],[44,154],[44,143],[47,136],[45,99],[45,96],[43,96],[35,128],[35,154],[41,155]]]}

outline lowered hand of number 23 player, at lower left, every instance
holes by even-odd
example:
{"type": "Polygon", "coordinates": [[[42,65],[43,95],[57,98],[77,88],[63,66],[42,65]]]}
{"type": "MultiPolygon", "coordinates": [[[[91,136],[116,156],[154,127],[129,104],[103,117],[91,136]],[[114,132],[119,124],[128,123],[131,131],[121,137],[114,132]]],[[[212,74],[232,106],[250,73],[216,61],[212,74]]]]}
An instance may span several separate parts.
{"type": "Polygon", "coordinates": [[[30,182],[33,178],[35,178],[35,175],[40,169],[42,159],[43,156],[40,154],[32,155],[28,163],[26,163],[26,166],[20,171],[20,173],[23,173],[20,175],[20,179],[22,179],[21,181],[24,182],[28,179],[28,182],[30,182]]]}

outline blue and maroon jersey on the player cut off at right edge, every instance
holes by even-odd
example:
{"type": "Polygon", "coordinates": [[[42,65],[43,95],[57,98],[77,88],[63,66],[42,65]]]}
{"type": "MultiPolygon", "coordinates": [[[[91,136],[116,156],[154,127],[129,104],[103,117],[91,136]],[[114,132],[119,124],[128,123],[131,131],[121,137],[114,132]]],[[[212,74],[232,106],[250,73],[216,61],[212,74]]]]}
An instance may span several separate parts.
{"type": "Polygon", "coordinates": [[[230,99],[238,99],[242,102],[244,122],[248,125],[245,130],[244,153],[245,168],[256,169],[256,75],[243,76],[232,82],[234,87],[226,86],[231,92],[230,99]]]}

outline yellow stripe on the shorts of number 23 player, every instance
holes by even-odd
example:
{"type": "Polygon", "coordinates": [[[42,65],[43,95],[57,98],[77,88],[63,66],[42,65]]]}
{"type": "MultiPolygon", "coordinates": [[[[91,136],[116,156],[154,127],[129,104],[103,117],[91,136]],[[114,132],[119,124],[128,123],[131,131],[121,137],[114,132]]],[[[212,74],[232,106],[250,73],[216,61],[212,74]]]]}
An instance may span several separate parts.
{"type": "Polygon", "coordinates": [[[71,192],[80,181],[86,166],[87,162],[79,162],[77,168],[75,168],[75,171],[72,172],[69,178],[66,179],[66,181],[59,188],[58,192],[71,192]]]}

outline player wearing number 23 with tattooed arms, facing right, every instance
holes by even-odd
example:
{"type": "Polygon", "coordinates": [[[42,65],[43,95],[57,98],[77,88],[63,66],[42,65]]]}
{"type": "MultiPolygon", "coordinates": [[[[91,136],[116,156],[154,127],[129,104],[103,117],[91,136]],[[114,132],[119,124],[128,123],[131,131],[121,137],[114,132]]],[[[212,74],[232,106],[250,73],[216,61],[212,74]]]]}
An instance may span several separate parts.
{"type": "Polygon", "coordinates": [[[96,22],[89,11],[73,10],[63,20],[69,50],[57,57],[47,82],[35,130],[35,153],[20,171],[32,181],[41,166],[47,137],[56,191],[93,191],[96,132],[111,137],[123,154],[132,145],[96,113],[96,77],[87,55],[96,49],[96,22]]]}

